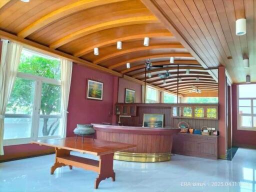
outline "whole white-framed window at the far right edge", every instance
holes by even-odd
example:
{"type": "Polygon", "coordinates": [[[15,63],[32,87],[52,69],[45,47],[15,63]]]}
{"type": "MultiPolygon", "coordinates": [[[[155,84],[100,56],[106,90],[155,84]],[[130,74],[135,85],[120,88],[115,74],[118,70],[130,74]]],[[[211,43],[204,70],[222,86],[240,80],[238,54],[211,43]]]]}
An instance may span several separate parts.
{"type": "Polygon", "coordinates": [[[256,130],[256,84],[238,85],[238,129],[256,130]]]}

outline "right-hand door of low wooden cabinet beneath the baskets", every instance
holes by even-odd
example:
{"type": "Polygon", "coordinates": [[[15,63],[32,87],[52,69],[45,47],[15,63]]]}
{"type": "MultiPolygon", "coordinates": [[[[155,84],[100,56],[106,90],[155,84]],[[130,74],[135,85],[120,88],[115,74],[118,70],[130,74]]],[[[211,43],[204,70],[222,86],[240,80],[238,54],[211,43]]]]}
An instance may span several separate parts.
{"type": "MultiPolygon", "coordinates": [[[[199,155],[202,157],[216,157],[217,149],[214,142],[200,141],[199,142],[199,155]]],[[[217,158],[217,157],[216,157],[217,158]]]]}

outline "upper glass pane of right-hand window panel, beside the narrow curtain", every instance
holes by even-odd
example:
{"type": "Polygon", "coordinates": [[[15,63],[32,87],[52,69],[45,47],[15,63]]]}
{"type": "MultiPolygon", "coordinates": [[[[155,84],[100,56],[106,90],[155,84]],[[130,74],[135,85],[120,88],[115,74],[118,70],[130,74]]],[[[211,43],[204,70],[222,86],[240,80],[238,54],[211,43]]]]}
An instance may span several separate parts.
{"type": "Polygon", "coordinates": [[[60,113],[61,90],[59,85],[42,83],[40,114],[60,113]]]}

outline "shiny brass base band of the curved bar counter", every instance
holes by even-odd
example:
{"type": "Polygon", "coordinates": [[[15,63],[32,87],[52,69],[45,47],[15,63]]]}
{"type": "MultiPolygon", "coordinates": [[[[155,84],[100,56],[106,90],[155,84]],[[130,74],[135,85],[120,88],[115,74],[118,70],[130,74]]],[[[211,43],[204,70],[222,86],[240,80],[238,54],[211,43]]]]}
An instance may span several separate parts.
{"type": "Polygon", "coordinates": [[[170,160],[170,152],[166,153],[132,153],[132,152],[115,152],[115,160],[125,160],[132,162],[160,162],[170,160]]]}

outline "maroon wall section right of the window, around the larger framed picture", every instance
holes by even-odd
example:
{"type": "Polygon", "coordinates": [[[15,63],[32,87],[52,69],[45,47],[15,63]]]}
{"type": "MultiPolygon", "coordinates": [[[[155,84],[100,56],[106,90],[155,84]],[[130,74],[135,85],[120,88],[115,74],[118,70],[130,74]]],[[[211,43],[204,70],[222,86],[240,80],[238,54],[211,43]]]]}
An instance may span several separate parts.
{"type": "Polygon", "coordinates": [[[117,77],[73,64],[67,114],[67,136],[73,136],[76,124],[112,122],[113,100],[117,95],[117,77]],[[103,82],[103,100],[86,99],[87,79],[103,82]]]}

